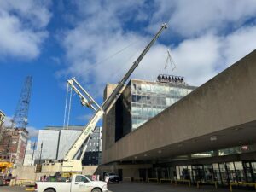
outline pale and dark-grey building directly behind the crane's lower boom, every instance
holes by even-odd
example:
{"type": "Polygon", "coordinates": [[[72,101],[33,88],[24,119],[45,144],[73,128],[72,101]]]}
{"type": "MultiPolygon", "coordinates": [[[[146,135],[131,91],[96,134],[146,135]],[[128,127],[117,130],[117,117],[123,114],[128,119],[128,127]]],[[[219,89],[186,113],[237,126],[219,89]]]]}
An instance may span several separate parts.
{"type": "MultiPolygon", "coordinates": [[[[35,154],[35,163],[44,160],[62,160],[79,137],[84,126],[69,126],[63,129],[61,126],[48,126],[39,130],[38,144],[35,154]]],[[[84,154],[83,165],[98,165],[101,157],[102,127],[96,127],[91,134],[88,147],[84,154]]]]}

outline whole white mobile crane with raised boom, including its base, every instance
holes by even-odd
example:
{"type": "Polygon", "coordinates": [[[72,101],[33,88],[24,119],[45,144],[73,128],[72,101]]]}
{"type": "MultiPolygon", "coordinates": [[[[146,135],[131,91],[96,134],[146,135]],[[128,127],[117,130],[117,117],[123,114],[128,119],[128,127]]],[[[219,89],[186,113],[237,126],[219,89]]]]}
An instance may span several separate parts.
{"type": "Polygon", "coordinates": [[[72,147],[67,151],[63,160],[58,162],[46,161],[42,165],[42,172],[82,172],[82,159],[84,157],[84,152],[86,150],[87,144],[84,145],[86,140],[89,140],[90,134],[94,131],[97,122],[102,118],[102,115],[108,110],[108,108],[116,101],[116,97],[119,95],[120,91],[125,86],[125,82],[131,76],[131,73],[138,66],[140,61],[142,61],[144,55],[147,54],[148,50],[154,44],[157,38],[159,38],[161,32],[167,28],[166,23],[162,24],[160,30],[154,35],[154,38],[149,42],[141,55],[137,57],[137,60],[133,62],[131,68],[125,73],[123,79],[120,80],[119,84],[113,90],[112,94],[108,96],[102,106],[99,106],[96,101],[90,96],[90,94],[84,90],[84,88],[79,84],[79,82],[72,78],[67,80],[67,84],[73,88],[73,90],[79,95],[82,105],[91,108],[96,113],[90,119],[89,123],[85,125],[84,130],[79,135],[77,140],[73,143],[72,147]],[[84,95],[83,95],[83,93],[84,95]]]}

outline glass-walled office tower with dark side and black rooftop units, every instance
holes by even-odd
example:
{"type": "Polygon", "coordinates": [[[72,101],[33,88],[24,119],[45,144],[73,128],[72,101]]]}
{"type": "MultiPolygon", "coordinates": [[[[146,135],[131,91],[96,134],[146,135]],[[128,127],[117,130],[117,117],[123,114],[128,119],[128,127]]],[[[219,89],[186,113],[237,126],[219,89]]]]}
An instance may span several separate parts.
{"type": "Polygon", "coordinates": [[[116,140],[195,90],[182,77],[159,75],[155,82],[131,79],[116,102],[116,140]]]}

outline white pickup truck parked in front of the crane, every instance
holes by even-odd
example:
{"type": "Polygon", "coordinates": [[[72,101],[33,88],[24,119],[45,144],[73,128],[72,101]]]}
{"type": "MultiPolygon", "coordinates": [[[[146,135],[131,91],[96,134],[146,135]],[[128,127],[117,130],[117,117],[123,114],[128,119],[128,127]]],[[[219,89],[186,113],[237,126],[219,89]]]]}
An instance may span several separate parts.
{"type": "Polygon", "coordinates": [[[75,174],[69,182],[36,182],[37,192],[107,192],[107,183],[75,174]]]}

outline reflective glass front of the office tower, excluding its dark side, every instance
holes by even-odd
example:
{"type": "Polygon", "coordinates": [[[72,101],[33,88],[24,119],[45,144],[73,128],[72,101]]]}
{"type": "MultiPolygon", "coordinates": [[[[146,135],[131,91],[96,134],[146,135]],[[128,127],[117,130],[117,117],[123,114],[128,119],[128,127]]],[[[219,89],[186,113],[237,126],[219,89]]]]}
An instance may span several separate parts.
{"type": "Polygon", "coordinates": [[[192,90],[195,90],[195,87],[185,84],[131,80],[132,130],[188,95],[192,90]]]}

